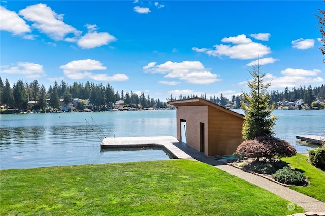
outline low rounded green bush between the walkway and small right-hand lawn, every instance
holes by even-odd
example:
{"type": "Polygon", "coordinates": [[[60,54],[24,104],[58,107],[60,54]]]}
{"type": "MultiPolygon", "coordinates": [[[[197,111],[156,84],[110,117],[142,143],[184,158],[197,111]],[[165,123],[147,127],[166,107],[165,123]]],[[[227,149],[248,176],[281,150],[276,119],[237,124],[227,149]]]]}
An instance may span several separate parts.
{"type": "Polygon", "coordinates": [[[285,166],[282,169],[276,171],[275,174],[272,174],[272,177],[276,181],[288,185],[301,185],[305,182],[306,179],[306,176],[303,173],[292,170],[288,166],[285,166]]]}

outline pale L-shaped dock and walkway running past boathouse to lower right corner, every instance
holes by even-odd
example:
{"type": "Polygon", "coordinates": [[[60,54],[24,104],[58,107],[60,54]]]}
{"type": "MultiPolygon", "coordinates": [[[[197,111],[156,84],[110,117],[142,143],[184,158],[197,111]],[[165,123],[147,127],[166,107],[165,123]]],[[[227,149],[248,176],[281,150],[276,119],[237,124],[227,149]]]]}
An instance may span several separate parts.
{"type": "MultiPolygon", "coordinates": [[[[290,202],[302,206],[308,213],[321,212],[320,214],[308,215],[325,215],[325,203],[316,200],[307,195],[298,193],[292,189],[284,187],[280,184],[269,181],[268,179],[254,175],[252,173],[244,172],[230,165],[225,165],[218,162],[212,157],[206,156],[203,152],[199,152],[192,147],[189,147],[184,142],[179,142],[173,136],[155,136],[155,137],[120,137],[120,138],[104,138],[101,148],[110,147],[140,147],[140,146],[164,146],[176,158],[186,158],[189,160],[197,160],[203,163],[210,164],[218,169],[228,172],[231,175],[237,176],[257,185],[265,190],[270,191],[290,202]]],[[[307,214],[307,213],[306,213],[307,214]]],[[[299,214],[299,215],[306,215],[299,214]]],[[[298,214],[297,214],[298,215],[298,214]]]]}

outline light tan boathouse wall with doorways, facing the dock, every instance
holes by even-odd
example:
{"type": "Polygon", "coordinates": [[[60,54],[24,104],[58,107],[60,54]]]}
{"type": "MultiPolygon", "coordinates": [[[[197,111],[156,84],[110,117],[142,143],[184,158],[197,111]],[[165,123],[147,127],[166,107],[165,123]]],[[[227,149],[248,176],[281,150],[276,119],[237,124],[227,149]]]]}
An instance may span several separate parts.
{"type": "Polygon", "coordinates": [[[186,120],[187,145],[200,151],[200,122],[204,123],[205,154],[208,155],[208,106],[177,107],[177,139],[181,141],[181,119],[186,120]]]}

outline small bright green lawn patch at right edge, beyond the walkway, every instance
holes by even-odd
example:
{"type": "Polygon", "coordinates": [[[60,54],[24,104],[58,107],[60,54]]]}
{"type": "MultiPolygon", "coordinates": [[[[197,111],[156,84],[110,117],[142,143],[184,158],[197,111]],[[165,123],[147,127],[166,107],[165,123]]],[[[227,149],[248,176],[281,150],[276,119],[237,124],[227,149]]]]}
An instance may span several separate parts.
{"type": "Polygon", "coordinates": [[[302,194],[325,202],[325,172],[308,163],[307,156],[297,154],[294,157],[282,158],[291,167],[302,171],[310,182],[308,187],[291,186],[290,188],[302,194]]]}

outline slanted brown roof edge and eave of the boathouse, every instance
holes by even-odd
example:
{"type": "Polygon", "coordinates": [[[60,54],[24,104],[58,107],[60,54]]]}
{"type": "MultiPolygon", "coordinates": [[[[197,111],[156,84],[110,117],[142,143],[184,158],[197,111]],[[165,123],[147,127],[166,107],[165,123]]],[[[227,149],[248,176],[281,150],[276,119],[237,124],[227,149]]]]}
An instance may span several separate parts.
{"type": "Polygon", "coordinates": [[[239,118],[244,118],[244,115],[240,113],[236,113],[232,110],[226,109],[223,106],[217,105],[215,103],[212,103],[210,101],[204,100],[202,98],[196,97],[196,98],[190,98],[190,99],[185,99],[185,100],[173,100],[167,102],[170,105],[180,107],[180,106],[211,106],[214,107],[215,109],[221,110],[223,112],[229,113],[231,115],[237,116],[239,118]]]}

